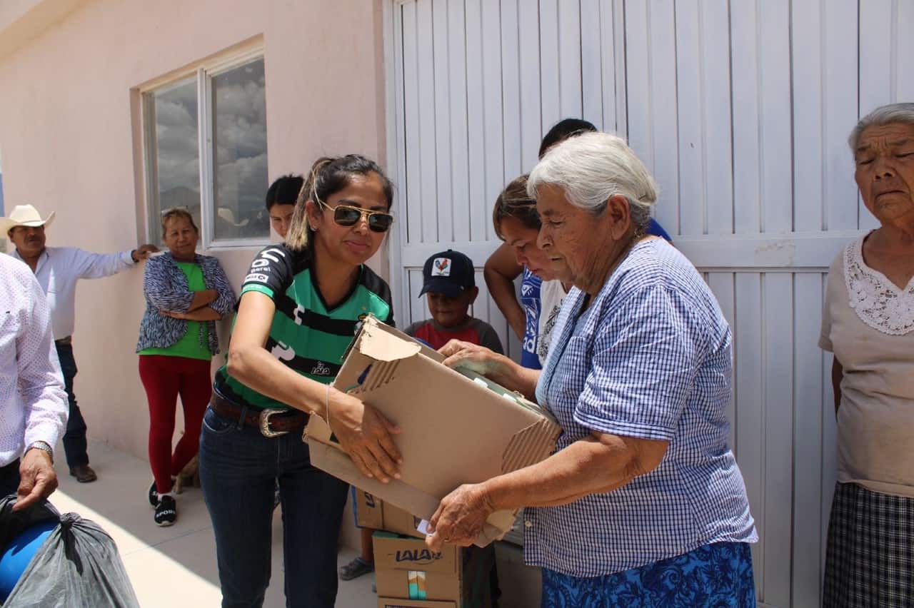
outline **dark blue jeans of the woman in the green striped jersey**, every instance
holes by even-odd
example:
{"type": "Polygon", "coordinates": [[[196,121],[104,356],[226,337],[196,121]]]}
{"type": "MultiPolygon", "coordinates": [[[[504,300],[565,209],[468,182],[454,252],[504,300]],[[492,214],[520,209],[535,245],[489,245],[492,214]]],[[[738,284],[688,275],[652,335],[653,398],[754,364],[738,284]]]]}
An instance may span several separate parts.
{"type": "Polygon", "coordinates": [[[286,605],[330,608],[336,600],[336,548],[349,486],[311,466],[301,433],[264,437],[207,409],[200,481],[216,533],[223,608],[263,604],[270,583],[276,480],[286,605]]]}

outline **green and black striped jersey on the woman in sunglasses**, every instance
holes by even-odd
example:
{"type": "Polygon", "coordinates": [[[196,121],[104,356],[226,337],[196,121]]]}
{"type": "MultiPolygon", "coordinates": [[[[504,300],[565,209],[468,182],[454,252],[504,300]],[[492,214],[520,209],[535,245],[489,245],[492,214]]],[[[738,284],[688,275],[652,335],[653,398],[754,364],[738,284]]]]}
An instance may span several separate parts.
{"type": "MultiPolygon", "coordinates": [[[[241,296],[249,291],[258,291],[276,304],[266,350],[319,383],[333,382],[360,319],[372,313],[393,324],[390,288],[371,268],[359,267],[356,285],[331,309],[314,284],[311,254],[293,252],[284,244],[267,247],[251,262],[241,296]]],[[[288,409],[232,378],[225,365],[216,372],[215,388],[235,404],[288,409]]]]}

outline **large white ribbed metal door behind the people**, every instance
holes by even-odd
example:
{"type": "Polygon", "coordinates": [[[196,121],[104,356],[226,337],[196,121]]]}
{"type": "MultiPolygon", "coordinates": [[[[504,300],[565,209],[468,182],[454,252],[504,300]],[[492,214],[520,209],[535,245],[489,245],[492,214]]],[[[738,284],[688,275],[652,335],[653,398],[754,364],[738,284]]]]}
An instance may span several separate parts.
{"type": "MultiPolygon", "coordinates": [[[[482,267],[495,196],[552,124],[627,136],[660,183],[658,220],[734,331],[731,444],[761,537],[760,603],[819,605],[834,486],[824,278],[875,225],[846,136],[877,105],[914,99],[914,3],[389,0],[385,17],[400,322],[427,316],[430,254],[482,267]]],[[[484,296],[474,314],[504,341],[484,296]]]]}

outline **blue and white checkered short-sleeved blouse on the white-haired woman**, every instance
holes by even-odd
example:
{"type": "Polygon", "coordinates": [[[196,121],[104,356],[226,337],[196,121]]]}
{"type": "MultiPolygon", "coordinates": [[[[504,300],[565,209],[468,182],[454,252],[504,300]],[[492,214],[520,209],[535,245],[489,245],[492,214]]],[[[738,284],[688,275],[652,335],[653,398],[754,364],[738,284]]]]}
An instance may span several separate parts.
{"type": "Polygon", "coordinates": [[[675,247],[632,248],[590,308],[573,288],[553,332],[537,401],[564,432],[670,442],[660,466],[606,494],[527,508],[531,565],[592,577],[719,541],[758,540],[727,445],[731,335],[717,300],[675,247]]]}

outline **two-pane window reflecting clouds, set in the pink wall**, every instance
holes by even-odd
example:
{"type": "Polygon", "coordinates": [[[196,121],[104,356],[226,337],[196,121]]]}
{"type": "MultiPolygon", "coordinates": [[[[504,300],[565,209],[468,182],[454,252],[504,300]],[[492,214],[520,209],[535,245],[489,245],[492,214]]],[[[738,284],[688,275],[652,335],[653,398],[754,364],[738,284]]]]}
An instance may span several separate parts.
{"type": "Polygon", "coordinates": [[[153,242],[161,242],[159,217],[172,207],[194,216],[202,248],[268,241],[265,87],[257,57],[200,67],[143,93],[153,242]]]}

